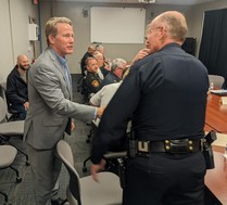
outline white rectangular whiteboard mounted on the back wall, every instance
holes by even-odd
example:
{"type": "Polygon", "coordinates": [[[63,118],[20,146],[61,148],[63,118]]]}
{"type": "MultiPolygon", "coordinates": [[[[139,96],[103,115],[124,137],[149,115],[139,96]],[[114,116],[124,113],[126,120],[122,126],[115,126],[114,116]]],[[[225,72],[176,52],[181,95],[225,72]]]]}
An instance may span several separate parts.
{"type": "Polygon", "coordinates": [[[144,30],[146,9],[142,7],[90,8],[91,42],[143,43],[144,30]],[[100,30],[102,30],[101,35],[100,30]]]}

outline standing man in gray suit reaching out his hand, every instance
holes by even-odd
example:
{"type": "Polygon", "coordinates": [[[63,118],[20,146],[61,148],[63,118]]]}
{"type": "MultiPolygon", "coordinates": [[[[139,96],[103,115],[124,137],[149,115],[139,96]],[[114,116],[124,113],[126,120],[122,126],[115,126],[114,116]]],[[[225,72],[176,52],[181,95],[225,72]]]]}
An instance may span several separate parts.
{"type": "Polygon", "coordinates": [[[29,110],[24,140],[29,156],[36,205],[63,204],[58,198],[61,163],[54,155],[56,142],[71,134],[71,118],[90,123],[103,108],[72,102],[72,81],[66,55],[73,53],[71,20],[52,17],[46,24],[47,50],[28,73],[29,110]]]}

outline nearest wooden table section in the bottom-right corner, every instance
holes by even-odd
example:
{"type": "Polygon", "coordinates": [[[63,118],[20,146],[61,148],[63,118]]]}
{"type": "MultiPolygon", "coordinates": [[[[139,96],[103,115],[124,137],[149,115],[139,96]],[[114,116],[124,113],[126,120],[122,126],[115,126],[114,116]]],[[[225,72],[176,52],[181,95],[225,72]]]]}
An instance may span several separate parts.
{"type": "Polygon", "coordinates": [[[223,156],[225,148],[213,146],[214,169],[207,169],[205,175],[205,185],[218,200],[217,204],[227,204],[227,158],[223,156]]]}

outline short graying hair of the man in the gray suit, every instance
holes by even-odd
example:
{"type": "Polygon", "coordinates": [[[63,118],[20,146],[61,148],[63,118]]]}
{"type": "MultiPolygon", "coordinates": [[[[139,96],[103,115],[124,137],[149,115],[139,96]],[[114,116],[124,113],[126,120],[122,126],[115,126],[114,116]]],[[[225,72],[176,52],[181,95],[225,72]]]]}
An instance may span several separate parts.
{"type": "Polygon", "coordinates": [[[72,21],[67,17],[51,17],[50,20],[48,20],[46,24],[46,29],[45,29],[48,46],[50,44],[48,37],[50,35],[55,37],[58,34],[58,29],[56,29],[58,23],[65,23],[65,24],[70,24],[71,26],[73,26],[72,21]]]}

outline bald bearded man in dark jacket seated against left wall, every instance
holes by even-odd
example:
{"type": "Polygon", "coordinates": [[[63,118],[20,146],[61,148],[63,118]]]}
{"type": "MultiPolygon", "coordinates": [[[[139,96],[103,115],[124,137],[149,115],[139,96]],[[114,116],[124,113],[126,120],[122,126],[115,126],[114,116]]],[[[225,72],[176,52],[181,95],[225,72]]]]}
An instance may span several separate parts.
{"type": "Polygon", "coordinates": [[[18,112],[20,119],[25,119],[29,107],[27,94],[28,59],[22,54],[17,56],[17,64],[7,78],[7,94],[11,108],[18,112]]]}

